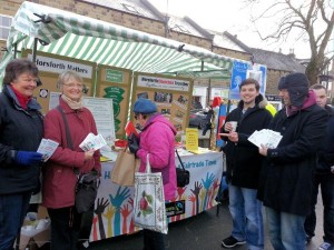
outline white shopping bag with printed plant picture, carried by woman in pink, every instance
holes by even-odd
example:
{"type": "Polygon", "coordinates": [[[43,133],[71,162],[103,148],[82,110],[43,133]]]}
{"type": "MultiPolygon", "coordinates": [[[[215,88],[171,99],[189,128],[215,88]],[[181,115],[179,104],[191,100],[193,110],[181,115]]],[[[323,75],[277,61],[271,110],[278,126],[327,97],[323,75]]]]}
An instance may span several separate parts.
{"type": "Polygon", "coordinates": [[[134,222],[144,229],[168,232],[163,177],[151,172],[149,154],[146,172],[135,173],[134,222]]]}

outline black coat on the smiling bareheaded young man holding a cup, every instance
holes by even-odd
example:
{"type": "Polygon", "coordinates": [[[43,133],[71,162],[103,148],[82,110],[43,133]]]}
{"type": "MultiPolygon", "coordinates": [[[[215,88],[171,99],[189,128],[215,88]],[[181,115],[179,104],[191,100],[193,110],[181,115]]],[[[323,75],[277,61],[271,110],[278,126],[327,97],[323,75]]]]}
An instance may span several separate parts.
{"type": "MultiPolygon", "coordinates": [[[[226,137],[222,137],[226,141],[224,152],[227,162],[227,181],[233,186],[257,189],[258,179],[263,157],[258,153],[258,148],[248,141],[248,137],[255,130],[268,128],[273,118],[268,110],[259,108],[258,103],[263,100],[259,94],[256,98],[256,106],[248,109],[243,114],[243,101],[227,117],[228,121],[238,121],[236,132],[238,133],[238,143],[234,143],[226,137]]],[[[220,132],[226,132],[224,126],[220,132]]]]}

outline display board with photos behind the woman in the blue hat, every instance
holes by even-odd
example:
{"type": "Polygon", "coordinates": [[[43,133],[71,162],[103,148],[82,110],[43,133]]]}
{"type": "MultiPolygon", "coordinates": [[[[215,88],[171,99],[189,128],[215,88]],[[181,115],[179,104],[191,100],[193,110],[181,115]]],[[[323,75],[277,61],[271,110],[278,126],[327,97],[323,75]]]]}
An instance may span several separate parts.
{"type": "MultiPolygon", "coordinates": [[[[136,72],[131,106],[138,98],[150,99],[157,104],[158,112],[174,124],[177,134],[185,134],[189,121],[193,88],[191,79],[136,72]]],[[[131,120],[134,121],[134,113],[131,120]]]]}

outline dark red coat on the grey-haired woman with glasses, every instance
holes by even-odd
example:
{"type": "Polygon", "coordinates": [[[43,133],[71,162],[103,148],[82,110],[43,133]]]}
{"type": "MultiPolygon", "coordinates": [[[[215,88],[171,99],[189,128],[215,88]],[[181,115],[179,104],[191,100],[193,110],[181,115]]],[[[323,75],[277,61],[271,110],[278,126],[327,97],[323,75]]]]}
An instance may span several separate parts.
{"type": "Polygon", "coordinates": [[[45,118],[45,138],[59,142],[53,156],[43,167],[42,204],[47,208],[66,208],[75,204],[77,177],[73,168],[80,172],[92,169],[101,171],[100,152],[94,159],[85,161],[85,152],[79,148],[89,132],[97,134],[91,112],[87,108],[72,110],[60,98],[59,104],[67,118],[75,150],[67,148],[63,119],[58,109],[50,110],[45,118]]]}

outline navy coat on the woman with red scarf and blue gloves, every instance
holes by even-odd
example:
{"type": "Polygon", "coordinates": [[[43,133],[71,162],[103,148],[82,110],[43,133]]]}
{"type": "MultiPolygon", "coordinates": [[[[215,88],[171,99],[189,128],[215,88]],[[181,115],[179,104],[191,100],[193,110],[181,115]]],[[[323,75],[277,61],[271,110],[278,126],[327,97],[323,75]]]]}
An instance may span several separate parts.
{"type": "Polygon", "coordinates": [[[4,86],[0,93],[0,194],[32,191],[38,186],[40,166],[14,163],[16,151],[37,151],[42,139],[40,106],[30,100],[23,110],[13,91],[4,86]]]}

